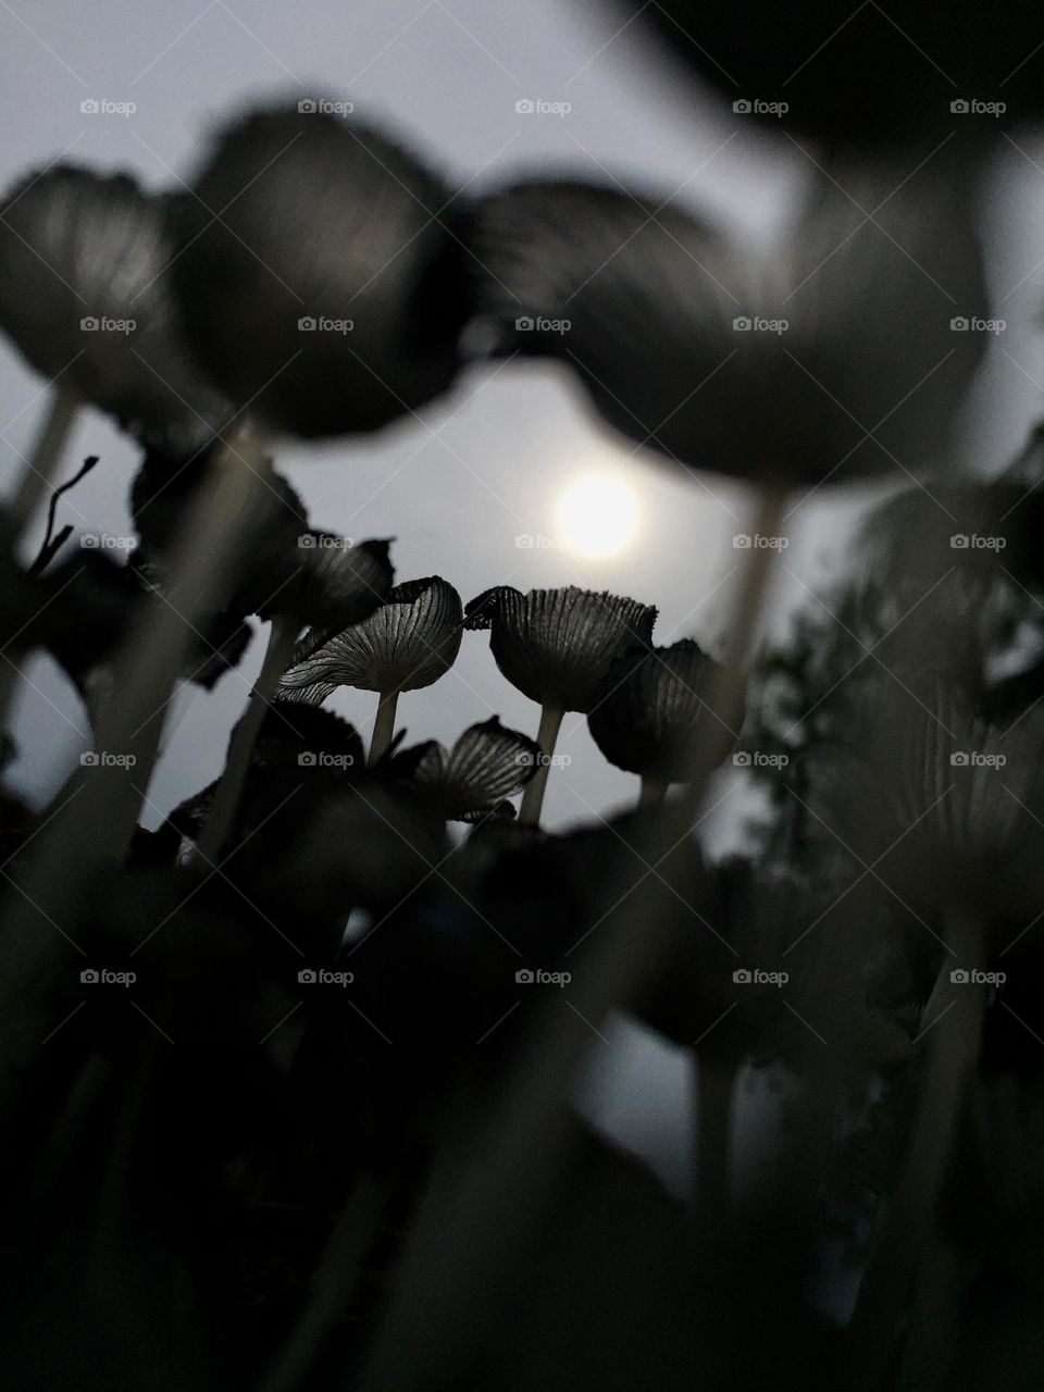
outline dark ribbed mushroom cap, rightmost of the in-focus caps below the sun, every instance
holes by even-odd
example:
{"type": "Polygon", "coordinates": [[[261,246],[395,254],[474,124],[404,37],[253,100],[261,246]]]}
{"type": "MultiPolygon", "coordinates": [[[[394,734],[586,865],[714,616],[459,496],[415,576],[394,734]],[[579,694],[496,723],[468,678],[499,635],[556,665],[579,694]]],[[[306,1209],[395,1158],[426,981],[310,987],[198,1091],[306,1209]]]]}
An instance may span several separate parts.
{"type": "Polygon", "coordinates": [[[587,715],[594,743],[617,768],[657,782],[685,782],[693,731],[720,728],[707,703],[717,670],[689,638],[628,653],[610,668],[604,693],[587,715]]]}

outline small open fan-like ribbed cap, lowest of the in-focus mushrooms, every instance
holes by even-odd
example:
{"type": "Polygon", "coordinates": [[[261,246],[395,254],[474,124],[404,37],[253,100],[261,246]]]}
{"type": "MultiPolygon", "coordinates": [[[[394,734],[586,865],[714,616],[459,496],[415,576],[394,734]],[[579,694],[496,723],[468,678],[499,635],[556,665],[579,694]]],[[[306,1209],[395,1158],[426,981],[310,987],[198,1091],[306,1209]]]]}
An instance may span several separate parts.
{"type": "Polygon", "coordinates": [[[448,820],[477,821],[533,777],[540,746],[500,718],[470,725],[451,750],[432,743],[413,781],[448,820]]]}

